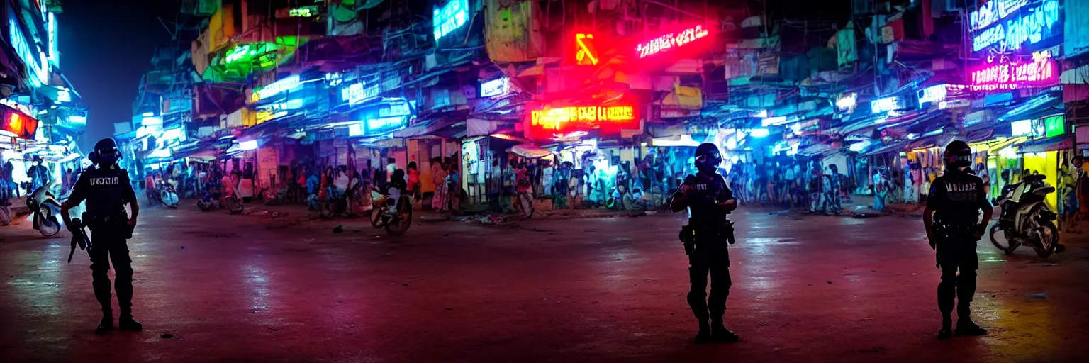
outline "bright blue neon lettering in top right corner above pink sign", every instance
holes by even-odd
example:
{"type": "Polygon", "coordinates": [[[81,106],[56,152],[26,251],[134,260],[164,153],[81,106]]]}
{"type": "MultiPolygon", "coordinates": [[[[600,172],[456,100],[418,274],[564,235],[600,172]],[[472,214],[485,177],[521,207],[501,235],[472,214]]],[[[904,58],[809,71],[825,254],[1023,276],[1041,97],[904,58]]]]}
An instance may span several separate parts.
{"type": "Polygon", "coordinates": [[[1028,8],[1003,23],[983,29],[971,39],[971,47],[980,51],[992,45],[1005,41],[1006,50],[1017,50],[1026,45],[1033,45],[1047,38],[1045,34],[1062,32],[1059,22],[1059,1],[1047,0],[1042,4],[1028,8]]]}

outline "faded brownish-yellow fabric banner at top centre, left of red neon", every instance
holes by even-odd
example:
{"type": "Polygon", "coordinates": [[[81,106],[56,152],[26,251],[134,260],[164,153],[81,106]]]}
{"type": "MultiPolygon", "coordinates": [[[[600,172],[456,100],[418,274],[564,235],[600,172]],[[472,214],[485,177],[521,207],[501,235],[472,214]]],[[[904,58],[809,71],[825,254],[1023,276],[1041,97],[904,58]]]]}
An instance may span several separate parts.
{"type": "Polygon", "coordinates": [[[526,62],[542,56],[537,1],[486,0],[488,56],[493,62],[526,62]]]}

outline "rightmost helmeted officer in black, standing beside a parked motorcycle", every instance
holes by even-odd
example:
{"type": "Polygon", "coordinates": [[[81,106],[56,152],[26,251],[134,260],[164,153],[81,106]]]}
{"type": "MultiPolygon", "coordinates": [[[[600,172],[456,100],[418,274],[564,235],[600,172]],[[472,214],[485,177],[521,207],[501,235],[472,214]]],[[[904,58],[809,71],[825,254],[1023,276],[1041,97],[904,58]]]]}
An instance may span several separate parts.
{"type": "Polygon", "coordinates": [[[938,251],[938,267],[942,281],[938,285],[938,310],[942,312],[942,328],[938,339],[953,336],[953,302],[957,301],[956,334],[982,336],[987,330],[971,322],[971,297],[976,293],[976,270],[979,257],[976,241],[983,237],[992,207],[983,191],[983,181],[971,173],[971,148],[963,141],[945,146],[945,174],[930,184],[922,221],[930,247],[938,251]],[[982,222],[979,211],[983,210],[982,222]],[[960,271],[957,275],[957,270],[960,271]]]}

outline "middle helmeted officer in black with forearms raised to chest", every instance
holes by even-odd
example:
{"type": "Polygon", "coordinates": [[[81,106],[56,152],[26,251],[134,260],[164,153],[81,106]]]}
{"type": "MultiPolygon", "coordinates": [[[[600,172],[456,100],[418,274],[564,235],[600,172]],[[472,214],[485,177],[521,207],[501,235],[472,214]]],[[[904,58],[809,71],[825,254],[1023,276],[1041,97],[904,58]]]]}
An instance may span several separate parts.
{"type": "Polygon", "coordinates": [[[725,179],[717,172],[721,162],[722,156],[714,144],[699,145],[696,148],[699,172],[685,178],[670,202],[674,213],[686,208],[689,211],[688,225],[681,228],[681,242],[690,265],[688,305],[699,323],[697,343],[738,341],[737,335],[722,325],[732,285],[726,244],[734,243],[733,222],[726,220],[726,215],[737,208],[737,199],[725,179]],[[706,291],[708,274],[711,276],[710,295],[706,291]]]}

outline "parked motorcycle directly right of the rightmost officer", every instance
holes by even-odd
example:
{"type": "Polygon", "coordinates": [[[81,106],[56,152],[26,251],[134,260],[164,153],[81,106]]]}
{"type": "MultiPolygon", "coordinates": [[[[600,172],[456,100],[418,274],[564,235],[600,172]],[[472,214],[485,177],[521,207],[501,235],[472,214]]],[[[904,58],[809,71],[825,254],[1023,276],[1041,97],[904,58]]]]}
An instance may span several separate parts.
{"type": "Polygon", "coordinates": [[[1006,254],[1012,254],[1019,245],[1029,245],[1040,257],[1063,252],[1055,228],[1057,215],[1043,203],[1054,186],[1043,183],[1044,176],[1028,176],[1025,181],[1005,189],[998,199],[1002,207],[999,222],[991,227],[991,243],[1006,254]],[[999,232],[1002,233],[999,233],[999,232]]]}

